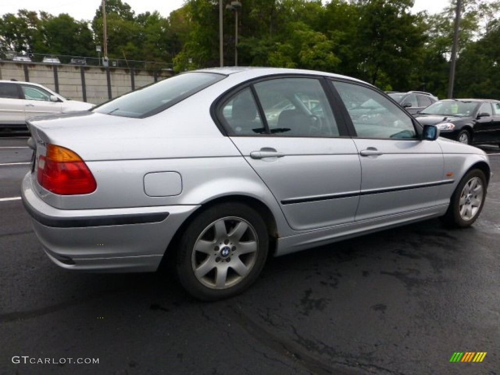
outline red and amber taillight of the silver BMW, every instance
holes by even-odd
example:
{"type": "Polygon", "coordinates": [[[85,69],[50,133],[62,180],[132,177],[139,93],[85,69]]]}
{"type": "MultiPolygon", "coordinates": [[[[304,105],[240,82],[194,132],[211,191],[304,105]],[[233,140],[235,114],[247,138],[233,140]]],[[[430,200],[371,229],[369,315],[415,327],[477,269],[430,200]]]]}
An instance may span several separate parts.
{"type": "Polygon", "coordinates": [[[70,149],[47,145],[46,155],[40,155],[36,173],[38,183],[59,195],[88,194],[97,183],[85,162],[70,149]]]}

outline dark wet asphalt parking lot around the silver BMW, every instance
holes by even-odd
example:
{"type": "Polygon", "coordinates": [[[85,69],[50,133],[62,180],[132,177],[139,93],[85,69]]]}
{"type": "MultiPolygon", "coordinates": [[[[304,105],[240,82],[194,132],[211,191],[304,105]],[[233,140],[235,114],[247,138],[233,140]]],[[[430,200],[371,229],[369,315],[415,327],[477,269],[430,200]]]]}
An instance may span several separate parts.
{"type": "Polygon", "coordinates": [[[271,259],[244,294],[203,303],[166,273],[52,264],[19,199],[26,138],[0,139],[0,374],[500,373],[500,148],[482,148],[493,177],[471,228],[434,219],[271,259]]]}

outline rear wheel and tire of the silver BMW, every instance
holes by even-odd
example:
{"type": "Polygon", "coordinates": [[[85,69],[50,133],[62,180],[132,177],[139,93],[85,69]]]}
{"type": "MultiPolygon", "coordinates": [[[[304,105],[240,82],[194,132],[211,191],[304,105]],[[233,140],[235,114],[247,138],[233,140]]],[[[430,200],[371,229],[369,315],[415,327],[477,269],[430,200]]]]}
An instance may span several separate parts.
{"type": "Polygon", "coordinates": [[[180,238],[177,276],[198,299],[232,297],[255,281],[267,258],[268,243],[265,222],[253,208],[238,202],[209,207],[180,238]]]}

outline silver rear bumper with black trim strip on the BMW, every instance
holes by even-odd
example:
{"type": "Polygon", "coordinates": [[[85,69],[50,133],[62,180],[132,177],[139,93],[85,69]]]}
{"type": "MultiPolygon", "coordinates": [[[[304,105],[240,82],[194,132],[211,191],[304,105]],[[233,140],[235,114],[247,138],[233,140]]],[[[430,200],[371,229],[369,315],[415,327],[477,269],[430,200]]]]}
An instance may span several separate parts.
{"type": "Polygon", "coordinates": [[[30,173],[21,196],[48,257],[63,268],[87,271],[156,270],[178,227],[198,207],[58,209],[38,196],[30,173]]]}

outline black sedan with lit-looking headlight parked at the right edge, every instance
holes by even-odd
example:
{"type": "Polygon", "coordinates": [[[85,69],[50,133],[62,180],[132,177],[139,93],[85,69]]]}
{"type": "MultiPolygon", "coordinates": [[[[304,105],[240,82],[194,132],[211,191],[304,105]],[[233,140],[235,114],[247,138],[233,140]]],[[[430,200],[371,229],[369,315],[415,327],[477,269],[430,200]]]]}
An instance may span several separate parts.
{"type": "Polygon", "coordinates": [[[415,116],[422,125],[435,125],[439,135],[466,144],[500,145],[500,101],[444,99],[415,116]]]}

